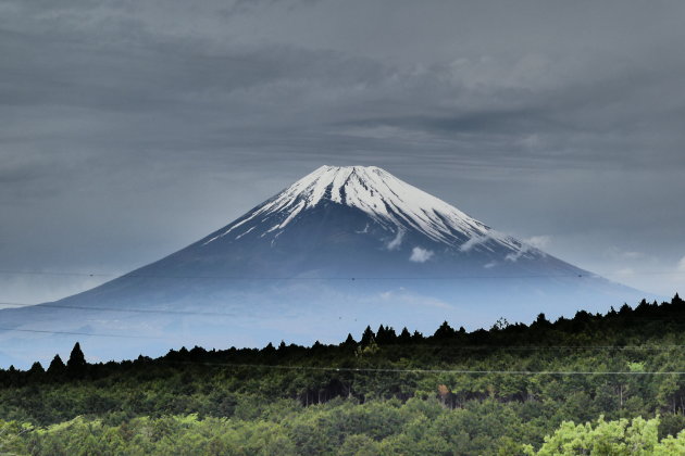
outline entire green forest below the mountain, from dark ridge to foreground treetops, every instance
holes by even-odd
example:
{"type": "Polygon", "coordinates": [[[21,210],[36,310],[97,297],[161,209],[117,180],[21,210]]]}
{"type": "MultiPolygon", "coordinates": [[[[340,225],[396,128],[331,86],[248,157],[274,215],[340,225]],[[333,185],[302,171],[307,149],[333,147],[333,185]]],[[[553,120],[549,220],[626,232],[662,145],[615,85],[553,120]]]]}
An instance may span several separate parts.
{"type": "MultiPolygon", "coordinates": [[[[0,370],[0,454],[685,454],[685,301],[0,370]]],[[[87,350],[86,350],[87,351],[87,350]]]]}

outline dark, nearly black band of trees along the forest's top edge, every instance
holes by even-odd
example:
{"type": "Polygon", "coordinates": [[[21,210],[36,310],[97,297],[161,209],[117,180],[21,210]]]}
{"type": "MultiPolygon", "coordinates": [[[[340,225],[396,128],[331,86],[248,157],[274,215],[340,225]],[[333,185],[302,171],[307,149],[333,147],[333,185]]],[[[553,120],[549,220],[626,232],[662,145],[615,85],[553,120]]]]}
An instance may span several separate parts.
{"type": "MultiPolygon", "coordinates": [[[[117,375],[132,375],[136,371],[154,372],[154,368],[173,366],[184,369],[185,365],[225,366],[236,369],[241,365],[286,365],[288,367],[359,367],[362,359],[383,352],[384,362],[396,362],[416,355],[428,355],[426,362],[438,363],[477,362],[501,354],[518,352],[518,358],[526,358],[532,353],[553,353],[557,356],[573,355],[582,351],[650,351],[649,341],[660,341],[653,349],[681,349],[677,342],[680,331],[685,329],[685,302],[677,295],[671,302],[648,303],[643,300],[635,308],[624,304],[619,311],[611,308],[605,315],[580,311],[573,318],[559,318],[551,322],[545,314],[525,325],[509,324],[500,319],[489,330],[478,329],[466,332],[463,327],[453,329],[445,321],[432,335],[418,331],[410,333],[403,328],[399,333],[394,328],[381,326],[375,332],[366,327],[359,341],[349,334],[338,345],[323,345],[315,342],[311,347],[281,342],[258,349],[211,350],[195,346],[172,350],[157,359],[140,355],[135,360],[89,364],[76,343],[70,358],[64,363],[55,355],[47,369],[35,363],[28,370],[11,366],[0,369],[0,388],[25,387],[41,383],[64,383],[79,380],[96,381],[117,375]],[[663,342],[671,342],[665,344],[663,342]]],[[[415,359],[419,360],[419,359],[415,359]]],[[[363,364],[363,363],[362,363],[363,364]]],[[[387,364],[387,363],[386,363],[387,364]]],[[[429,367],[413,363],[413,367],[429,367]]],[[[164,375],[164,371],[160,372],[164,375]]],[[[349,393],[349,391],[348,391],[349,393]]],[[[335,396],[336,394],[334,394],[335,396]]],[[[361,398],[361,397],[360,397],[361,398]]],[[[407,397],[403,397],[407,398],[407,397]]],[[[304,397],[304,402],[307,398],[304,397]]],[[[319,400],[314,401],[320,402],[319,400]]],[[[683,404],[676,404],[682,409],[683,404]]]]}

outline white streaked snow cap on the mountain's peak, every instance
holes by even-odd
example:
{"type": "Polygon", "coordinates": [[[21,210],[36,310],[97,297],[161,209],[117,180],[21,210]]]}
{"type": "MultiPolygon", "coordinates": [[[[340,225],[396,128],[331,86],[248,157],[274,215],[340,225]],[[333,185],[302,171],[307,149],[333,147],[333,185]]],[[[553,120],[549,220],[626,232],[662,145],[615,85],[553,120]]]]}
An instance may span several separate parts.
{"type": "Polygon", "coordinates": [[[303,211],[326,202],[359,208],[393,232],[418,230],[436,242],[457,248],[462,245],[457,245],[456,239],[465,236],[471,243],[494,240],[520,249],[512,238],[376,166],[321,166],[205,243],[234,230],[241,236],[251,228],[250,221],[272,214],[278,214],[279,221],[265,233],[277,233],[303,211]]]}

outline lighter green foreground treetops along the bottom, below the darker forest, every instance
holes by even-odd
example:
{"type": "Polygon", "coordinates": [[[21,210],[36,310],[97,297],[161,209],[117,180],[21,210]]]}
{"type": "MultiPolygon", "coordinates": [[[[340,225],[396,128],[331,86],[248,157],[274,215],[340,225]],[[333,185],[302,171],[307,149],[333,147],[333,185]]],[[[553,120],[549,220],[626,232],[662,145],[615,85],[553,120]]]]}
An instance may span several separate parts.
{"type": "Polygon", "coordinates": [[[518,442],[527,426],[510,407],[489,400],[459,410],[446,409],[436,400],[337,400],[290,414],[264,411],[249,420],[191,414],[107,425],[76,417],[30,433],[26,425],[0,421],[0,442],[5,452],[33,455],[685,454],[685,431],[659,441],[658,418],[600,417],[594,426],[564,421],[537,451],[518,442]]]}

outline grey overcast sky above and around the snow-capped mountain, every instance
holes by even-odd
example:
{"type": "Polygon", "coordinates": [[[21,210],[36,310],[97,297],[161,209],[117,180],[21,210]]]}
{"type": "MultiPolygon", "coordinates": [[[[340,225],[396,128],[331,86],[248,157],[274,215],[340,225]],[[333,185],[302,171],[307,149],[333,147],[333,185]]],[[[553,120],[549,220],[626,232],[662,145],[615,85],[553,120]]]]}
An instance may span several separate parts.
{"type": "Polygon", "coordinates": [[[685,2],[2,1],[0,302],[176,251],[323,165],[685,292],[685,2]]]}

